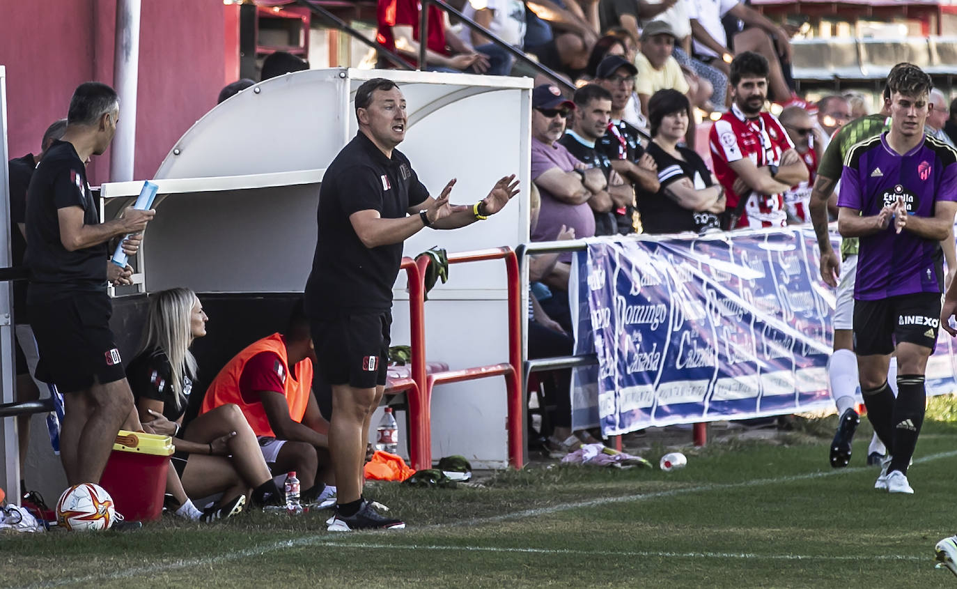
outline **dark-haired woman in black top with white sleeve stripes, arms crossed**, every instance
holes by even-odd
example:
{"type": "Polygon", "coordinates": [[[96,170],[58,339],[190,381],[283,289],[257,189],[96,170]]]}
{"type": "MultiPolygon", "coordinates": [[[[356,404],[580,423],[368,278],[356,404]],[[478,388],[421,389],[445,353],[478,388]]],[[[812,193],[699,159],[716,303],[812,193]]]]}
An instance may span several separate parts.
{"type": "Polygon", "coordinates": [[[678,90],[658,90],[648,101],[652,142],[646,153],[655,159],[660,188],[638,193],[645,233],[666,234],[720,230],[724,189],[701,156],[679,146],[688,128],[688,99],[678,90]]]}

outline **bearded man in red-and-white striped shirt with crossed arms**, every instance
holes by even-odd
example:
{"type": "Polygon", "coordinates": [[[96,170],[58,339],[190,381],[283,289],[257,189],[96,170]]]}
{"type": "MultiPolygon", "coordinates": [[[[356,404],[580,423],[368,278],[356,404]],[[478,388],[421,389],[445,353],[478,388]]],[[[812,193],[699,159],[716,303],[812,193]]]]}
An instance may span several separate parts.
{"type": "Polygon", "coordinates": [[[729,80],[734,102],[709,134],[715,175],[727,195],[726,214],[736,219],[728,228],[784,227],[784,193],[806,182],[808,169],[784,127],[762,112],[768,60],[752,52],[735,57],[729,80]]]}

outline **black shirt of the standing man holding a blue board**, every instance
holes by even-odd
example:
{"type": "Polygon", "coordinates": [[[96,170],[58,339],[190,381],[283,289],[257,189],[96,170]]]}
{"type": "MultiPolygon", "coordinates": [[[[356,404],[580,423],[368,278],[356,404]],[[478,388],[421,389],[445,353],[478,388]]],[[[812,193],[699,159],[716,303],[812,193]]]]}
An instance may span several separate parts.
{"type": "Polygon", "coordinates": [[[100,223],[100,212],[86,166],[73,144],[55,141],[33,172],[27,195],[27,264],[33,305],[69,297],[75,292],[106,292],[106,242],[67,251],[60,240],[57,211],[83,209],[83,224],[100,223]]]}

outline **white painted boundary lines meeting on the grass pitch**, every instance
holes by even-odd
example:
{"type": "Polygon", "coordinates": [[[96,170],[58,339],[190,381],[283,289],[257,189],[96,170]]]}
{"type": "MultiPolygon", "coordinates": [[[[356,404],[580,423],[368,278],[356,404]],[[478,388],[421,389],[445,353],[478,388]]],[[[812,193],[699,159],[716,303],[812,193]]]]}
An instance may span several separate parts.
{"type": "MultiPolygon", "coordinates": [[[[922,458],[916,459],[914,464],[924,464],[931,461],[940,460],[943,458],[951,458],[957,456],[957,450],[952,450],[949,452],[940,452],[937,454],[930,454],[922,458]]],[[[742,481],[740,483],[730,483],[730,484],[709,484],[709,485],[700,485],[697,487],[681,487],[675,489],[669,489],[665,491],[657,491],[652,493],[638,493],[634,495],[625,495],[621,497],[607,497],[603,499],[591,499],[589,501],[579,501],[575,503],[563,503],[560,505],[550,506],[547,508],[538,508],[534,510],[522,510],[515,511],[513,513],[504,513],[502,515],[492,515],[488,517],[476,517],[469,520],[450,522],[446,524],[434,524],[432,526],[422,526],[420,528],[414,528],[414,531],[419,530],[435,530],[442,528],[451,528],[451,527],[461,527],[461,526],[476,526],[480,524],[495,523],[508,519],[516,519],[523,517],[532,517],[537,515],[546,515],[550,513],[557,513],[560,511],[576,510],[576,509],[587,509],[591,507],[601,507],[605,505],[611,505],[615,503],[625,503],[625,502],[635,502],[635,501],[647,501],[649,499],[657,499],[660,497],[673,497],[676,495],[684,495],[689,493],[696,493],[700,491],[715,490],[715,489],[732,489],[732,488],[741,488],[741,487],[759,487],[763,485],[774,485],[778,483],[790,483],[795,481],[809,481],[812,479],[819,479],[824,477],[837,476],[841,474],[847,474],[851,472],[859,472],[861,470],[875,470],[873,466],[854,466],[851,468],[840,468],[835,470],[825,470],[819,472],[811,472],[807,474],[800,475],[791,475],[787,477],[778,477],[773,479],[755,479],[752,481],[742,481]]],[[[876,491],[877,492],[877,491],[876,491]]],[[[133,533],[142,533],[142,532],[133,532],[133,533]]],[[[383,535],[383,534],[394,534],[401,532],[357,532],[361,535],[352,535],[351,537],[368,537],[370,534],[383,535]]],[[[266,553],[276,552],[278,550],[297,548],[301,546],[329,546],[335,548],[367,548],[370,550],[373,549],[397,549],[397,550],[433,550],[433,551],[483,551],[483,552],[498,552],[498,553],[527,553],[527,554],[553,554],[553,555],[621,555],[621,556],[646,556],[646,557],[679,557],[679,558],[754,558],[754,559],[766,559],[766,560],[929,560],[927,558],[922,558],[919,556],[907,556],[907,555],[861,555],[861,556],[834,556],[834,555],[756,555],[749,553],[673,553],[673,552],[615,552],[615,551],[573,551],[573,550],[562,550],[562,549],[537,549],[537,548],[500,548],[494,546],[438,546],[438,545],[415,545],[415,544],[386,544],[386,543],[363,543],[363,542],[343,542],[338,539],[340,536],[330,535],[329,533],[322,534],[313,534],[308,536],[302,536],[299,538],[294,538],[291,540],[280,540],[278,542],[273,542],[272,544],[264,544],[254,548],[247,548],[244,550],[234,551],[226,553],[223,555],[215,556],[205,556],[202,558],[189,558],[181,560],[173,560],[170,562],[163,562],[143,567],[132,567],[127,568],[122,571],[115,571],[105,575],[88,575],[85,577],[74,577],[74,578],[59,578],[53,581],[47,581],[42,583],[34,583],[32,585],[25,585],[25,587],[61,587],[63,585],[71,584],[86,584],[92,583],[100,580],[114,580],[119,578],[131,578],[131,577],[142,577],[153,575],[156,573],[166,572],[166,571],[175,571],[179,569],[186,569],[191,567],[210,567],[213,564],[217,564],[224,561],[235,560],[238,558],[245,558],[247,556],[254,555],[264,555],[266,553]]]]}

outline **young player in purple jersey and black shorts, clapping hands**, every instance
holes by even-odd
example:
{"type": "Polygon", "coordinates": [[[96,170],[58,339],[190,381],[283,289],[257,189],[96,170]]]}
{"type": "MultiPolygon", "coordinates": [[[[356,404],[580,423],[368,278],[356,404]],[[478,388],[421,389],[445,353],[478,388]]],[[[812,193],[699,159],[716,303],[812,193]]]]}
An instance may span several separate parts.
{"type": "Polygon", "coordinates": [[[924,369],[937,341],[943,255],[957,212],[957,151],[924,137],[930,77],[895,68],[890,130],[852,147],[844,160],[837,227],[860,238],[854,349],[867,416],[889,450],[875,488],[913,493],[907,466],[924,423],[924,369]],[[898,397],[887,384],[898,358],[898,397]]]}

